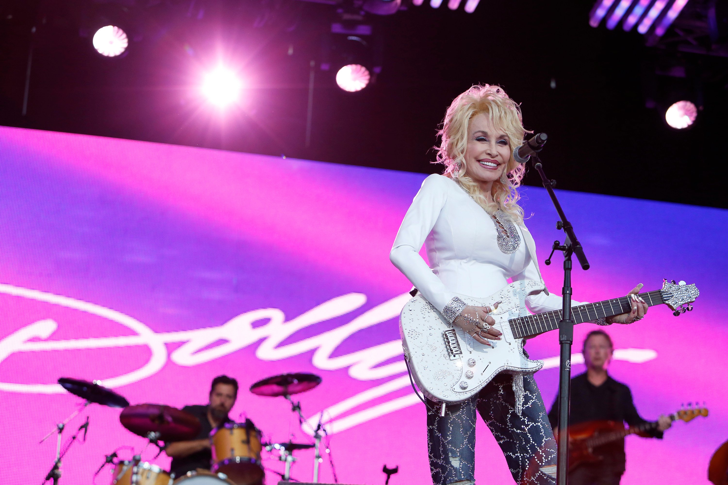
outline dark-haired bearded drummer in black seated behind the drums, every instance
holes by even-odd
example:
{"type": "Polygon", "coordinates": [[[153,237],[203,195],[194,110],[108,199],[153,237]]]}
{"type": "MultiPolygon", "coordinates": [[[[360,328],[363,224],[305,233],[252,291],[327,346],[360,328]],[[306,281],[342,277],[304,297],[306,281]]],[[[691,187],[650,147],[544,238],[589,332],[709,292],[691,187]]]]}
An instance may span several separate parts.
{"type": "MultiPolygon", "coordinates": [[[[167,443],[165,452],[172,458],[171,473],[181,477],[197,468],[210,470],[213,454],[210,450],[210,432],[221,428],[226,422],[232,422],[228,413],[237,398],[237,380],[226,375],[213,379],[210,386],[210,403],[207,406],[184,406],[183,411],[193,414],[202,425],[197,436],[189,441],[167,443]]],[[[253,427],[250,420],[245,420],[246,427],[253,427]]]]}

